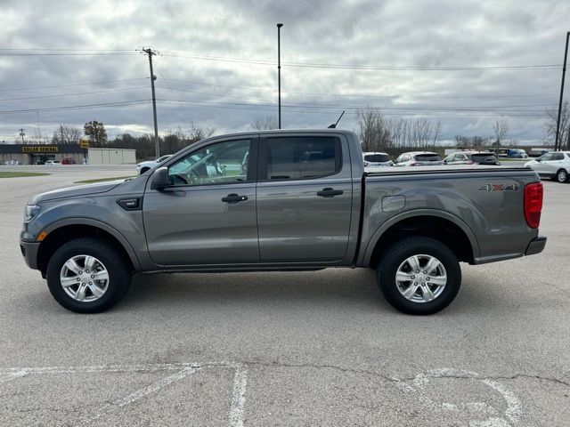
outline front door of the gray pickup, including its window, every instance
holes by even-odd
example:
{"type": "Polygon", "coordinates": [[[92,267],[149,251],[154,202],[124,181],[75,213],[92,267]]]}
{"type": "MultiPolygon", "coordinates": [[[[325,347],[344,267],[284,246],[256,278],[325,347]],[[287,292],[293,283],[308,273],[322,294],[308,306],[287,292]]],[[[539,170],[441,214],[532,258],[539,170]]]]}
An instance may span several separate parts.
{"type": "Polygon", "coordinates": [[[147,187],[142,212],[154,262],[259,262],[255,168],[249,167],[256,145],[252,137],[202,146],[168,163],[166,189],[147,187]]]}

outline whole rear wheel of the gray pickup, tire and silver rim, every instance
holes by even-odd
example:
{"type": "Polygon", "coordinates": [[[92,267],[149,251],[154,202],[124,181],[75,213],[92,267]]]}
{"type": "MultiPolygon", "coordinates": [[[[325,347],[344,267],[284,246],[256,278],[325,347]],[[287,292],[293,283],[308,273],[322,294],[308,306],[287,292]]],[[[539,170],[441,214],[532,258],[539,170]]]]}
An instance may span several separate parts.
{"type": "Polygon", "coordinates": [[[426,315],[444,310],[457,296],[457,256],[433,238],[403,238],[387,249],[377,270],[379,287],[395,309],[426,315]]]}

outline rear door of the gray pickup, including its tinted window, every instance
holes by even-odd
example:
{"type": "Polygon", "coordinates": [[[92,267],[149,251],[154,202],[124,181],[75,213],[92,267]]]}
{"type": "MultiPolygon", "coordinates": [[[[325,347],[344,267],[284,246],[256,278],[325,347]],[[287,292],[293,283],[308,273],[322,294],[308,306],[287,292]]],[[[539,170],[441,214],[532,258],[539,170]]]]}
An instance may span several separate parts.
{"type": "Polygon", "coordinates": [[[261,262],[346,256],[353,184],[343,135],[260,139],[257,227],[261,262]]]}

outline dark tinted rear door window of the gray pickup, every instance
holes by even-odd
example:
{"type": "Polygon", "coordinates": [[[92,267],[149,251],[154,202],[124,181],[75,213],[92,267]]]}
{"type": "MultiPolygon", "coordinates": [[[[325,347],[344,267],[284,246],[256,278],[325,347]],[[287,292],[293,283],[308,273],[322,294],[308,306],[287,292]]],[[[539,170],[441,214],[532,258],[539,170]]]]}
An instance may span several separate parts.
{"type": "Polygon", "coordinates": [[[302,180],[340,171],[340,140],[303,136],[267,140],[267,180],[302,180]]]}

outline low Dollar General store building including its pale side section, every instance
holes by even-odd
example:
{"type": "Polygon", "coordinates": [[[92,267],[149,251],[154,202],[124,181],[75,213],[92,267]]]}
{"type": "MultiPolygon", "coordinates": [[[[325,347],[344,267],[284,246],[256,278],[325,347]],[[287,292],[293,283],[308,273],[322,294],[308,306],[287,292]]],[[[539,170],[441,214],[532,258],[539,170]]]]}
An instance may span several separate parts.
{"type": "Polygon", "coordinates": [[[0,144],[0,165],[43,165],[47,160],[81,165],[134,165],[134,149],[82,149],[75,144],[0,144]]]}

